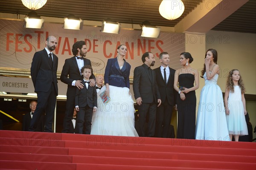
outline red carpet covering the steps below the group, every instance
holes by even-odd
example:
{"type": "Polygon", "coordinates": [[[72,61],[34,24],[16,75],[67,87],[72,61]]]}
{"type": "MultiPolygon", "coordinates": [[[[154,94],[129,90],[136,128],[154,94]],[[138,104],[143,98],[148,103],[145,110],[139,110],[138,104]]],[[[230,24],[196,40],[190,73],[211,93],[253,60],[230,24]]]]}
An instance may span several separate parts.
{"type": "Polygon", "coordinates": [[[256,170],[256,143],[0,130],[0,169],[256,170]]]}

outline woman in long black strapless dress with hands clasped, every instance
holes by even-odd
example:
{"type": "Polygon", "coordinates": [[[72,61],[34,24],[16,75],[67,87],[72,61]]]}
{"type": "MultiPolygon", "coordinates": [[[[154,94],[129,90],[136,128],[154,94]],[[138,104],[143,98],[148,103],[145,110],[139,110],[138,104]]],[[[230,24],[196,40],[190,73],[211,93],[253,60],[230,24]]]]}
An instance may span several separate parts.
{"type": "Polygon", "coordinates": [[[199,88],[199,74],[190,67],[193,58],[190,53],[180,54],[180,68],[175,73],[174,88],[177,95],[178,127],[177,138],[195,139],[195,90],[199,88]]]}

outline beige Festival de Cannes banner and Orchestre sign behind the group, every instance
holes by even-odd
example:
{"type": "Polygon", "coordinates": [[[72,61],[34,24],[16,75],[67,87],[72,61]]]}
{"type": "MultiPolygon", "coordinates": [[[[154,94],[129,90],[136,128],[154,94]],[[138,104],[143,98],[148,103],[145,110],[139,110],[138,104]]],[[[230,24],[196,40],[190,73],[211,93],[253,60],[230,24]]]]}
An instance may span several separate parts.
{"type": "MultiPolygon", "coordinates": [[[[143,64],[141,56],[147,51],[152,52],[156,58],[152,68],[161,65],[159,54],[166,51],[170,55],[169,66],[174,69],[180,68],[179,56],[185,51],[185,34],[162,32],[159,38],[146,38],[140,36],[139,30],[121,29],[120,34],[108,34],[100,32],[101,28],[98,27],[84,26],[83,30],[69,30],[62,27],[62,24],[44,23],[44,28],[41,29],[23,28],[23,21],[0,20],[0,67],[30,69],[35,52],[45,48],[45,41],[49,35],[58,38],[58,44],[53,51],[58,56],[58,72],[61,72],[65,59],[73,57],[72,45],[80,40],[86,42],[88,50],[86,58],[91,60],[94,74],[104,74],[107,60],[116,57],[116,48],[120,44],[127,46],[125,59],[131,64],[131,77],[134,68],[143,64]]],[[[23,93],[31,93],[32,89],[27,84],[24,86],[18,82],[20,80],[2,84],[1,81],[1,88],[12,88],[12,92],[29,89],[23,93]],[[15,90],[17,85],[20,86],[15,90]]]]}

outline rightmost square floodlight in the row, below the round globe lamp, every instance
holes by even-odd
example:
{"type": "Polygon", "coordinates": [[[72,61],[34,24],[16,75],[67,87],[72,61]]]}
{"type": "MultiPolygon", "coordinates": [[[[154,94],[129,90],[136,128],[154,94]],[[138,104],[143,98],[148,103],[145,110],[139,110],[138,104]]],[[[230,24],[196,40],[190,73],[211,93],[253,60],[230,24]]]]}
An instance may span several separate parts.
{"type": "Polygon", "coordinates": [[[141,37],[158,38],[160,35],[160,27],[152,26],[148,21],[144,21],[142,25],[141,37]]]}

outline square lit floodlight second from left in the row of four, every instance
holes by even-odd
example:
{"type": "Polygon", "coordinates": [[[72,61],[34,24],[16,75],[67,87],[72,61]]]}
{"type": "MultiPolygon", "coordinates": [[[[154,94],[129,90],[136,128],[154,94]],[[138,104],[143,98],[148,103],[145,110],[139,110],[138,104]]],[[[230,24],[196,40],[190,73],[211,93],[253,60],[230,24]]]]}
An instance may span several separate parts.
{"type": "Polygon", "coordinates": [[[64,18],[64,27],[65,29],[76,29],[82,30],[83,29],[84,20],[76,17],[73,14],[69,14],[67,17],[64,18]]]}

